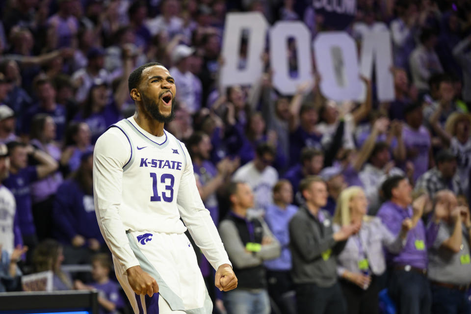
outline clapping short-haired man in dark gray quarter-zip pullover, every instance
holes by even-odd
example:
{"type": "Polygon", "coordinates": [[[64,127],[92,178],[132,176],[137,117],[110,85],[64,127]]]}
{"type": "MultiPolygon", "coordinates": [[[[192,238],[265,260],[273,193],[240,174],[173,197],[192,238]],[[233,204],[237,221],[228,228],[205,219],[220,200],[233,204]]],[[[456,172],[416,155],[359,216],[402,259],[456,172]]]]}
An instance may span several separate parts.
{"type": "Polygon", "coordinates": [[[333,232],[331,216],[321,209],[327,203],[328,193],[320,177],[305,178],[299,190],[306,203],[289,222],[298,314],[345,314],[335,256],[343,250],[345,240],[358,232],[360,224],[333,232]]]}

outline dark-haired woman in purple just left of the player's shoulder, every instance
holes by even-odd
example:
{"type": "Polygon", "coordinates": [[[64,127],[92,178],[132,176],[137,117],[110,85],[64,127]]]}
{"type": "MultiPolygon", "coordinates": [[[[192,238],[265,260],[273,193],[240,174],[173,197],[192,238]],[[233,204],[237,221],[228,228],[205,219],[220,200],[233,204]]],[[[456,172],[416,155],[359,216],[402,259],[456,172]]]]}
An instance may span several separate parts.
{"type": "Polygon", "coordinates": [[[61,164],[67,165],[67,172],[74,172],[80,166],[80,157],[92,149],[91,133],[85,122],[71,122],[65,131],[64,151],[60,159],[61,164]]]}

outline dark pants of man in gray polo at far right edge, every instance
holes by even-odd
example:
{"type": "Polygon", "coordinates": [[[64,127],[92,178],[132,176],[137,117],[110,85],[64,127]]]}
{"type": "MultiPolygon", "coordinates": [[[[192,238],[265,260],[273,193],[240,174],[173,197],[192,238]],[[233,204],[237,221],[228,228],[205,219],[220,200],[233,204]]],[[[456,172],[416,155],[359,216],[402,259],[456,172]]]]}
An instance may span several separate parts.
{"type": "Polygon", "coordinates": [[[432,289],[432,314],[471,314],[467,291],[430,285],[432,289]]]}

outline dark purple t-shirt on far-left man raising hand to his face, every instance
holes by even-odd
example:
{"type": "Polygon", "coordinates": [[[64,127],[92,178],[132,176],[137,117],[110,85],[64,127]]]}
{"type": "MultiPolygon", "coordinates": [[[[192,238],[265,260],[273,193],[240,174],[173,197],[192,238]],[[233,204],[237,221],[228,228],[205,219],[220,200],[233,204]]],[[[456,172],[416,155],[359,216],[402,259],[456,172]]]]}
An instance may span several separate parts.
{"type": "Polygon", "coordinates": [[[15,196],[18,224],[23,236],[36,233],[31,210],[31,183],[36,181],[37,178],[36,166],[28,166],[18,171],[17,174],[10,173],[8,178],[3,181],[3,184],[15,196]]]}

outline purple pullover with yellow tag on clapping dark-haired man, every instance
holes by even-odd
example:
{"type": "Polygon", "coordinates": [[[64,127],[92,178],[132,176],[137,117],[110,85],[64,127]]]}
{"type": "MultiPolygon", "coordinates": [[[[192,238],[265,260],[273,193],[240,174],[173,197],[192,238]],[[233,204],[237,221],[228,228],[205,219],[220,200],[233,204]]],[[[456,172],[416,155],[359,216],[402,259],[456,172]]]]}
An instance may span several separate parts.
{"type": "MultiPolygon", "coordinates": [[[[401,230],[402,221],[405,218],[412,218],[412,214],[411,206],[401,208],[388,201],[381,206],[377,216],[389,231],[397,236],[401,230]]],[[[426,243],[425,227],[422,220],[419,219],[417,226],[407,234],[406,245],[402,251],[397,255],[387,252],[386,260],[390,265],[411,265],[426,269],[428,264],[426,243]]]]}

